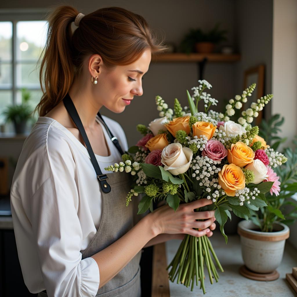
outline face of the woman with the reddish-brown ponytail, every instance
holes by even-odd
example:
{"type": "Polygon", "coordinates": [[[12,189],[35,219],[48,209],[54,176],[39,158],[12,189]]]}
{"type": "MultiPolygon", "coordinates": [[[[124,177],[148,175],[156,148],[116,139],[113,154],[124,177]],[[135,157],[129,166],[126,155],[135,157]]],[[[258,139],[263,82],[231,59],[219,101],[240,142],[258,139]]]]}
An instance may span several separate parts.
{"type": "Polygon", "coordinates": [[[149,70],[150,62],[151,51],[146,50],[136,62],[116,66],[112,71],[99,64],[98,83],[92,88],[99,104],[115,113],[121,113],[127,105],[133,104],[132,99],[143,94],[142,77],[149,70]]]}

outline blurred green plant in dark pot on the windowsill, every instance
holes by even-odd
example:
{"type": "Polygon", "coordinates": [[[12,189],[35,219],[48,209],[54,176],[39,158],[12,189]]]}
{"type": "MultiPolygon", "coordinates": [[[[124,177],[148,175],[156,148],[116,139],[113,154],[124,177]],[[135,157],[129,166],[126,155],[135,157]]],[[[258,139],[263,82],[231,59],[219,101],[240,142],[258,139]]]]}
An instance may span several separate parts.
{"type": "Polygon", "coordinates": [[[27,122],[32,118],[30,98],[31,93],[27,89],[22,89],[22,103],[9,105],[3,112],[5,120],[13,122],[17,134],[25,133],[27,122]]]}

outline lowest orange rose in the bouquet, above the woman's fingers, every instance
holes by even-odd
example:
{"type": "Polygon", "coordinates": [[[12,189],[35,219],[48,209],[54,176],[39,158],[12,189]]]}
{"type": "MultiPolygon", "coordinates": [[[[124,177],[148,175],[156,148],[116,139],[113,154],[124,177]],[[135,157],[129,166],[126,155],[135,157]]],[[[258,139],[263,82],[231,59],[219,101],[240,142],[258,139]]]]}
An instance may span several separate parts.
{"type": "Polygon", "coordinates": [[[240,167],[226,164],[219,172],[219,185],[228,196],[235,196],[236,190],[244,189],[245,176],[240,167]]]}

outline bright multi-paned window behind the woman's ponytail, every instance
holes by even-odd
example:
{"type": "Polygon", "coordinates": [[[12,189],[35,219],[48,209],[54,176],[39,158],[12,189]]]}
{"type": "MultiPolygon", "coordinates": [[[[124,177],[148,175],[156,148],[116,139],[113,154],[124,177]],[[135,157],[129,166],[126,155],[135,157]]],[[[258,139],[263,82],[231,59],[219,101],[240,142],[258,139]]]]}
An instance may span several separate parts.
{"type": "Polygon", "coordinates": [[[22,101],[22,89],[31,94],[30,104],[35,108],[42,92],[37,60],[45,46],[48,24],[44,14],[0,11],[0,125],[7,105],[22,101]],[[26,20],[26,16],[28,20],[26,20]],[[38,20],[39,19],[39,20],[38,20]]]}

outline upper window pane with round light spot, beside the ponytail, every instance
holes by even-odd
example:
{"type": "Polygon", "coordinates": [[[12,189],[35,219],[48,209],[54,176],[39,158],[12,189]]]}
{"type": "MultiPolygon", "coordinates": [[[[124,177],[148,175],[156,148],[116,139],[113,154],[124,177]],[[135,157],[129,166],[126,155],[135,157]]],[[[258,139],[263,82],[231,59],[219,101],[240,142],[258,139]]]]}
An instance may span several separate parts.
{"type": "Polygon", "coordinates": [[[45,46],[48,24],[46,21],[17,23],[17,60],[37,60],[45,46]]]}

